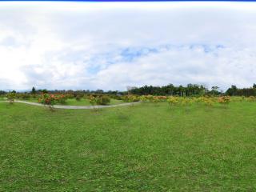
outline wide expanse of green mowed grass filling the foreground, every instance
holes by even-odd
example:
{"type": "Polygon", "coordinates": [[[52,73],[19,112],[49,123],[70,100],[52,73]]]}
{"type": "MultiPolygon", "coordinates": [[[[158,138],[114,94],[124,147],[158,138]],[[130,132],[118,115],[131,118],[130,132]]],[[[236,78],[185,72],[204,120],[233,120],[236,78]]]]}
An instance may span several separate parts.
{"type": "Polygon", "coordinates": [[[0,191],[255,191],[256,103],[0,103],[0,191]]]}

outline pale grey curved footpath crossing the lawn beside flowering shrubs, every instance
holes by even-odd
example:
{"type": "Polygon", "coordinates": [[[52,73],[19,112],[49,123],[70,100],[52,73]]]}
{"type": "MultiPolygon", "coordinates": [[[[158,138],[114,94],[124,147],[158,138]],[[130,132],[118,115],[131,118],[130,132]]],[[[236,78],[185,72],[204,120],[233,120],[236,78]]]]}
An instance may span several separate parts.
{"type": "MultiPolygon", "coordinates": [[[[8,101],[1,101],[1,102],[8,102],[8,101]]],[[[31,106],[44,106],[40,103],[36,102],[25,102],[25,101],[20,101],[20,100],[15,100],[14,102],[20,102],[20,103],[25,103],[31,106]]],[[[116,107],[116,106],[131,106],[134,104],[137,104],[139,102],[127,102],[127,103],[122,103],[122,104],[116,104],[116,105],[110,105],[110,106],[59,106],[59,105],[54,105],[54,108],[56,109],[66,109],[66,110],[91,110],[91,109],[99,109],[99,108],[110,108],[110,107],[116,107]]]]}

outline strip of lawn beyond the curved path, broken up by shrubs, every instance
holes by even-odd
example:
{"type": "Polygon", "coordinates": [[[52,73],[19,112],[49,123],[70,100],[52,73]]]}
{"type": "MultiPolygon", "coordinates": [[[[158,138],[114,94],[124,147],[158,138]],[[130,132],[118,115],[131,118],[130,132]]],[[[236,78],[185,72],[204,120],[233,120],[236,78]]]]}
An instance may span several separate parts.
{"type": "MultiPolygon", "coordinates": [[[[22,99],[20,99],[22,100],[22,99]]],[[[27,102],[38,102],[38,98],[30,98],[28,100],[24,100],[27,102]]],[[[115,104],[121,104],[123,103],[122,100],[117,100],[117,99],[111,99],[110,100],[110,105],[115,105],[115,104]]],[[[82,98],[80,101],[75,100],[74,98],[69,98],[66,100],[65,104],[60,104],[58,103],[57,105],[63,105],[63,106],[90,106],[90,102],[88,99],[82,98]]]]}

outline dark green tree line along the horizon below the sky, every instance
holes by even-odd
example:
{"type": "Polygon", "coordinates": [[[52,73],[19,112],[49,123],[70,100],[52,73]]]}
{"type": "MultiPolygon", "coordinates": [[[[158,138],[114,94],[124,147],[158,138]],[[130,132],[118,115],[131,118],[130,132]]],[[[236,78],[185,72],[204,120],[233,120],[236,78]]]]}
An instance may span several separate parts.
{"type": "MultiPolygon", "coordinates": [[[[0,90],[1,94],[6,94],[4,90],[0,90]]],[[[125,94],[136,94],[136,95],[172,95],[180,97],[190,97],[190,96],[203,96],[203,95],[229,95],[229,96],[256,96],[256,84],[249,88],[238,88],[237,86],[230,86],[223,92],[218,86],[212,86],[209,90],[206,86],[198,84],[187,84],[186,86],[174,86],[169,84],[167,86],[141,86],[134,87],[128,86],[126,91],[119,90],[36,90],[35,87],[31,91],[25,93],[30,94],[113,94],[113,95],[125,95],[125,94]]]]}

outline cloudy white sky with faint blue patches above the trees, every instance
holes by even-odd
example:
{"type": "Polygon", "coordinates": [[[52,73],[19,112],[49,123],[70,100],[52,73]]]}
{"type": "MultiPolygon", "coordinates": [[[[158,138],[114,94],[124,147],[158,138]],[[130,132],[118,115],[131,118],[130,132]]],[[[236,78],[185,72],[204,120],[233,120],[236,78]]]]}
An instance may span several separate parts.
{"type": "Polygon", "coordinates": [[[255,82],[256,2],[0,2],[0,90],[255,82]]]}

